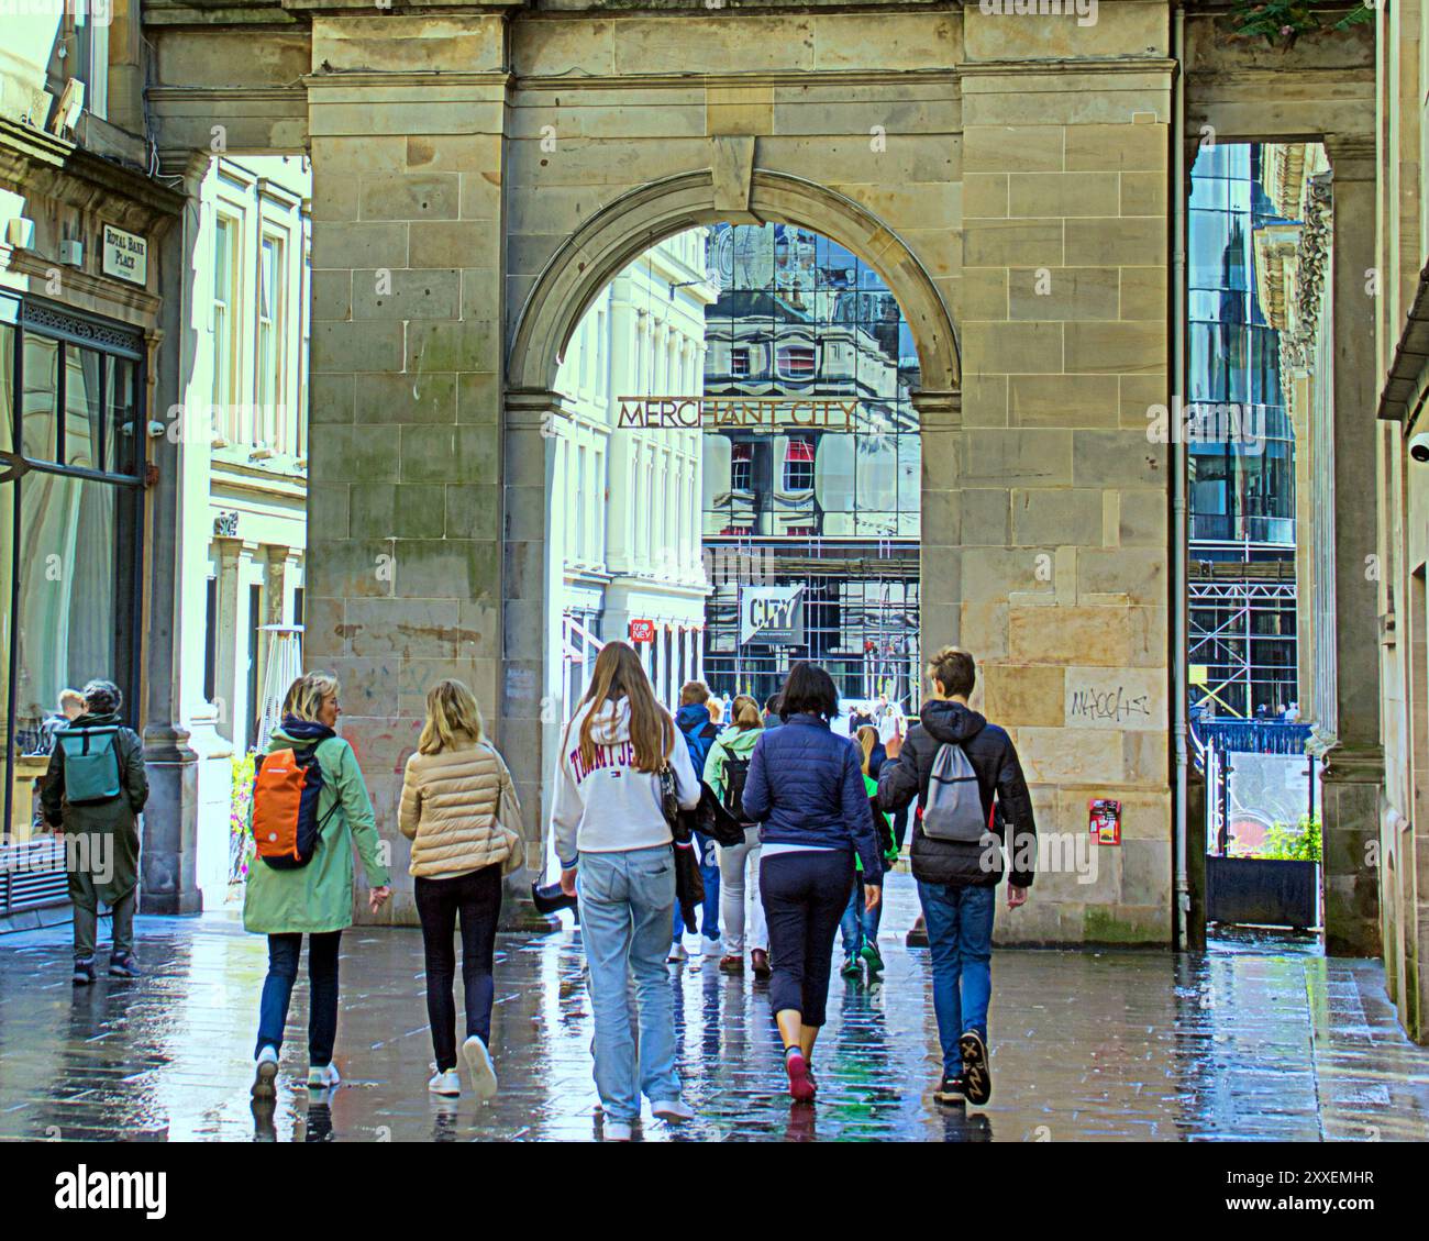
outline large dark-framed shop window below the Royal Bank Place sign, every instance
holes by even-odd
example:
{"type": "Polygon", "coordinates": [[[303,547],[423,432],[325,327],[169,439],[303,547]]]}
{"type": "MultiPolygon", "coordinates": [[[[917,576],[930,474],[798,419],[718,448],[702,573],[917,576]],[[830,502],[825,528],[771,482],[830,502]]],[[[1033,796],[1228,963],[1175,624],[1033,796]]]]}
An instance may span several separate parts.
{"type": "MultiPolygon", "coordinates": [[[[61,689],[103,676],[136,701],[143,543],[143,339],[123,325],[0,296],[4,449],[24,458],[0,503],[4,822],[61,689]]],[[[17,811],[24,821],[27,808],[17,811]]]]}

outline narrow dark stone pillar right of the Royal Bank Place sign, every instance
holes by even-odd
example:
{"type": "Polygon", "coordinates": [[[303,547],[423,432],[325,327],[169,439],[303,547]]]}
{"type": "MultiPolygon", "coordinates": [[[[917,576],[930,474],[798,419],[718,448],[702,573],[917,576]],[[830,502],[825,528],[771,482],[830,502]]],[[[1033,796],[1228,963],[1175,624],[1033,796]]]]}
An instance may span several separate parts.
{"type": "MultiPolygon", "coordinates": [[[[193,270],[199,230],[199,187],[206,156],[194,154],[166,173],[183,179],[189,204],[159,240],[160,272],[170,287],[193,270]]],[[[150,407],[164,410],[184,400],[184,375],[193,357],[194,335],[184,319],[186,297],[164,297],[160,313],[161,347],[151,349],[150,407]]],[[[194,864],[199,838],[199,755],[183,726],[183,659],[179,642],[181,589],[183,452],[209,452],[207,436],[181,435],[149,440],[149,460],[159,479],[149,490],[149,609],[144,618],[144,766],[149,804],[144,806],[140,852],[139,909],[143,914],[197,914],[203,909],[194,864]],[[186,443],[186,440],[197,440],[186,443]]]]}

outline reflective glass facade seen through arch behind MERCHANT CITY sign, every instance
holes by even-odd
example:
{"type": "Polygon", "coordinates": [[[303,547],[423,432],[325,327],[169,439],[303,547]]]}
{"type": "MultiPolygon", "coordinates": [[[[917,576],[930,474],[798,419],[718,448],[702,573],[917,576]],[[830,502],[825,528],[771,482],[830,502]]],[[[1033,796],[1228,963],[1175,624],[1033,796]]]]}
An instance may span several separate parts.
{"type": "Polygon", "coordinates": [[[845,399],[856,412],[849,429],[706,433],[706,679],[763,699],[815,659],[847,698],[915,706],[919,376],[897,302],[857,254],[789,224],[717,226],[709,267],[722,292],[704,315],[706,397],[845,399]],[[765,570],[753,582],[723,563],[765,570]],[[803,641],[740,641],[742,592],[786,585],[805,586],[803,641]]]}

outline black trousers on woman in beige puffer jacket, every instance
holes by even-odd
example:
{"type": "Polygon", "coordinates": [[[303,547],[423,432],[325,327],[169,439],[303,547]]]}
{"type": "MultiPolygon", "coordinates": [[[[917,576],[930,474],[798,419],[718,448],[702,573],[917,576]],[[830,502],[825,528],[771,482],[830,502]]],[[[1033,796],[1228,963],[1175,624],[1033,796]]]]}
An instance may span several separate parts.
{"type": "Polygon", "coordinates": [[[502,865],[493,862],[452,879],[416,881],[417,918],[427,958],[427,1021],[437,1071],[456,1068],[456,949],[452,942],[457,915],[462,918],[462,984],[466,991],[466,1032],[492,1042],[492,958],[496,954],[496,922],[502,914],[502,865]]]}

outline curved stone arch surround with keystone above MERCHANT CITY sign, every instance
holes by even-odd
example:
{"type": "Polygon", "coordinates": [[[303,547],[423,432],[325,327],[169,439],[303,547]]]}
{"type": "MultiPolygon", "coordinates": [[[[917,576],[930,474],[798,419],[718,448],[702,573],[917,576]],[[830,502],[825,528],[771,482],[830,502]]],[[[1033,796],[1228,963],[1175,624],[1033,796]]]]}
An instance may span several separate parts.
{"type": "MultiPolygon", "coordinates": [[[[913,333],[922,372],[915,396],[925,463],[955,460],[960,360],[952,317],[927,270],[887,224],[866,207],[825,186],[752,166],[753,143],[743,152],[739,176],[737,140],[712,139],[712,169],[682,173],[639,186],[587,219],[552,254],[510,326],[503,402],[503,575],[502,615],[506,675],[502,685],[503,738],[522,738],[509,748],[517,786],[540,821],[549,809],[549,769],[559,721],[552,661],[559,665],[560,613],[552,600],[560,588],[560,565],[549,555],[550,485],[554,419],[563,417],[556,372],[586,307],[630,262],[659,242],[700,224],[780,222],[812,229],[873,266],[903,310],[913,333]],[[736,174],[725,177],[722,157],[733,156],[736,174]],[[947,436],[939,448],[927,436],[947,436]],[[539,641],[533,641],[539,638],[539,641]]],[[[929,475],[922,490],[949,490],[956,479],[929,475]]],[[[945,572],[942,549],[956,543],[956,530],[939,519],[946,503],[923,503],[932,515],[923,528],[925,573],[945,572]],[[932,553],[932,555],[930,555],[932,553]]],[[[956,586],[953,586],[956,589],[956,586]]],[[[532,824],[527,825],[532,829],[532,824]]],[[[533,838],[539,836],[539,826],[533,838]]]]}

